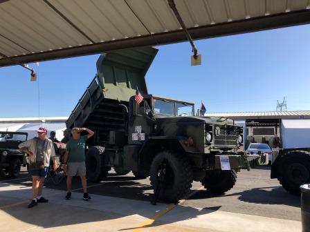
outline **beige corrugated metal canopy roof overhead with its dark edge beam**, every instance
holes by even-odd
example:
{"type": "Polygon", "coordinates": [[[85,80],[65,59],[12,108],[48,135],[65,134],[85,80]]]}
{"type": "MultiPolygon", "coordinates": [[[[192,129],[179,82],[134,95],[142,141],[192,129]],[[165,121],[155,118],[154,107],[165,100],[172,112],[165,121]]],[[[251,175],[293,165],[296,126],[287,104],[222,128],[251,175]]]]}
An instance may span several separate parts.
{"type": "MultiPolygon", "coordinates": [[[[175,3],[194,39],[310,22],[310,0],[175,3]]],[[[21,63],[186,40],[167,0],[0,0],[0,21],[0,52],[21,63]]]]}

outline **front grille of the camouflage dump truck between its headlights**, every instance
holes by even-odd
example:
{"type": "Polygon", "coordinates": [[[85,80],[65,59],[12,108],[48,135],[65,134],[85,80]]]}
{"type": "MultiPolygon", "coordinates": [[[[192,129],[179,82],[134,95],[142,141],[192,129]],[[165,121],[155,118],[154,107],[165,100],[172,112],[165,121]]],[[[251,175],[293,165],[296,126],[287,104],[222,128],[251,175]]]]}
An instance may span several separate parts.
{"type": "Polygon", "coordinates": [[[237,146],[236,126],[215,126],[215,146],[237,146]]]}

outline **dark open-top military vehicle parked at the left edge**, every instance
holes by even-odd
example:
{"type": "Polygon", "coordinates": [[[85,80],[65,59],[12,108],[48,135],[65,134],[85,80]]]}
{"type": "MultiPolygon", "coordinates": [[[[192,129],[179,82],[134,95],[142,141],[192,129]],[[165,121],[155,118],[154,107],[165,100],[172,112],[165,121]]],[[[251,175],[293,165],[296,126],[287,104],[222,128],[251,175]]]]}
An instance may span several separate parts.
{"type": "Polygon", "coordinates": [[[11,178],[19,176],[21,166],[26,166],[26,154],[18,145],[27,140],[28,133],[0,131],[0,171],[11,178]]]}

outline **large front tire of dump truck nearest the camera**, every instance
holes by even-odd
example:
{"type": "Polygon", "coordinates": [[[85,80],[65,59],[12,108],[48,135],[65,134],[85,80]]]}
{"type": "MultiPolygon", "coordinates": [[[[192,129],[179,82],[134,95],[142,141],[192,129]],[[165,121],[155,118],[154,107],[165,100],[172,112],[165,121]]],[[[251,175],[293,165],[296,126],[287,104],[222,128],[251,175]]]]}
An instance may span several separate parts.
{"type": "Polygon", "coordinates": [[[165,201],[176,202],[186,197],[192,187],[193,174],[190,162],[182,155],[170,151],[158,153],[152,161],[150,181],[154,193],[158,191],[158,175],[164,169],[165,178],[159,190],[158,198],[165,201]]]}

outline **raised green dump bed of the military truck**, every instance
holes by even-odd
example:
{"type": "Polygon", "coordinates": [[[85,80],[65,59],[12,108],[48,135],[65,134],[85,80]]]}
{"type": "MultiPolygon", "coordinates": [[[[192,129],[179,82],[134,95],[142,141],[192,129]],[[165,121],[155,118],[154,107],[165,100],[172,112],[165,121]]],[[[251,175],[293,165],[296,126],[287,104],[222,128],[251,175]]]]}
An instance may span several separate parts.
{"type": "Polygon", "coordinates": [[[97,74],[73,109],[67,128],[87,127],[95,131],[89,146],[104,146],[109,131],[124,131],[129,98],[147,94],[145,74],[157,53],[155,48],[136,48],[100,55],[97,74]]]}

